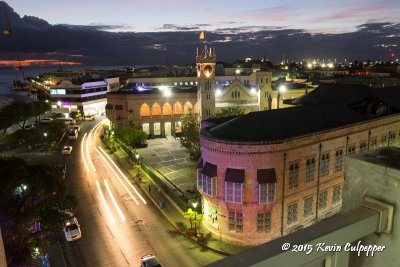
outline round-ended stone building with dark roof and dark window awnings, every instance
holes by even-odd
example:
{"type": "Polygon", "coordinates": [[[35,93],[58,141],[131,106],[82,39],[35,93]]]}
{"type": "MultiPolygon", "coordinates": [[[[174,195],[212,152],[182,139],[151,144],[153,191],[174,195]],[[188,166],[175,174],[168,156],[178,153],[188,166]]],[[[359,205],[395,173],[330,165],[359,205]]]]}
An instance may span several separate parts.
{"type": "Polygon", "coordinates": [[[257,245],[337,214],[344,159],[400,139],[400,87],[331,84],[299,107],[251,112],[201,130],[203,227],[257,245]]]}

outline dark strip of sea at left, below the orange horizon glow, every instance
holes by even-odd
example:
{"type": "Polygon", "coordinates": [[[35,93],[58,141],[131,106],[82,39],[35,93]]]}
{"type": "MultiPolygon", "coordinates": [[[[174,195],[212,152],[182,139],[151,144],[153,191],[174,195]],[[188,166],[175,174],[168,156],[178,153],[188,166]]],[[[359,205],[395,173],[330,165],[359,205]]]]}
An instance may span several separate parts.
{"type": "MultiPolygon", "coordinates": [[[[25,67],[21,70],[15,68],[0,68],[0,108],[12,100],[29,100],[29,93],[25,91],[13,91],[14,80],[23,81],[23,77],[34,77],[36,75],[53,72],[57,70],[77,71],[77,70],[112,70],[122,66],[47,66],[47,67],[25,67]]],[[[126,67],[126,66],[123,66],[126,67]]]]}

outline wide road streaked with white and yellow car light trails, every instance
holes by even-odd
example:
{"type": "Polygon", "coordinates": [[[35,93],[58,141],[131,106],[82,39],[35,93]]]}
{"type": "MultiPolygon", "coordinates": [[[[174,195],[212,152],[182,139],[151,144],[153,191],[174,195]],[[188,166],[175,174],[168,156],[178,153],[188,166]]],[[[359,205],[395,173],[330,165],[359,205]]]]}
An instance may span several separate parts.
{"type": "Polygon", "coordinates": [[[101,124],[82,126],[69,140],[69,193],[78,200],[76,217],[82,238],[60,238],[68,266],[139,266],[140,257],[157,256],[163,266],[203,266],[222,258],[175,232],[140,188],[129,182],[101,148],[101,124]]]}

